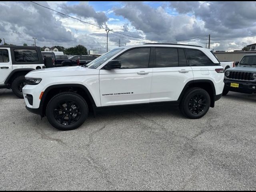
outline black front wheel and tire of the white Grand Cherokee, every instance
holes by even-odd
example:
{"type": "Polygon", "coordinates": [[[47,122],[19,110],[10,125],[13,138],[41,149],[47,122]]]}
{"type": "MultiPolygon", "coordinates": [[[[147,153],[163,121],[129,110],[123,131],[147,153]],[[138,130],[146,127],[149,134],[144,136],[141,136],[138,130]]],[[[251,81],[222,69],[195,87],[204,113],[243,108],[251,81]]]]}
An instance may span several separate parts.
{"type": "Polygon", "coordinates": [[[46,117],[58,130],[73,130],[82,125],[88,117],[88,105],[80,95],[62,92],[48,102],[46,117]]]}

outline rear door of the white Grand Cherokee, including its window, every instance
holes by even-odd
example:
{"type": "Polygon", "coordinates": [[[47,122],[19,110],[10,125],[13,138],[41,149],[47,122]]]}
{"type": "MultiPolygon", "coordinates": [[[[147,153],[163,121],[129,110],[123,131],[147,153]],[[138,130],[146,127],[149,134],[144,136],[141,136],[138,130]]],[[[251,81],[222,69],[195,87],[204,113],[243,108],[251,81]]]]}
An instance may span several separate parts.
{"type": "Polygon", "coordinates": [[[155,56],[150,102],[176,101],[185,84],[193,80],[184,49],[156,47],[155,56]]]}

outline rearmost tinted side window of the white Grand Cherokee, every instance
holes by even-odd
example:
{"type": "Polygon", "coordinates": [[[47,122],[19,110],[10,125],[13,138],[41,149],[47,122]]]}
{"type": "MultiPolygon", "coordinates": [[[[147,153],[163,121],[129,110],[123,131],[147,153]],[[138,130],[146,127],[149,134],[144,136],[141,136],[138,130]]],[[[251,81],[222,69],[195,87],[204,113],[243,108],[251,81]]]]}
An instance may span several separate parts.
{"type": "Polygon", "coordinates": [[[213,66],[212,61],[200,50],[186,49],[190,66],[213,66]]]}

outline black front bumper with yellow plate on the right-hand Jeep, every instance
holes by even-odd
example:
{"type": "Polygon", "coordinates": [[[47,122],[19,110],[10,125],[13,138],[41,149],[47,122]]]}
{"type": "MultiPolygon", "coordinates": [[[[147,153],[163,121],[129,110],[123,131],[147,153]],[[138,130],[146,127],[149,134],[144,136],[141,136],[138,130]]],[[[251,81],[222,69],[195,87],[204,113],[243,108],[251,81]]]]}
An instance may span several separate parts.
{"type": "Polygon", "coordinates": [[[256,93],[256,82],[243,82],[238,80],[224,80],[224,91],[233,91],[239,93],[256,93]]]}

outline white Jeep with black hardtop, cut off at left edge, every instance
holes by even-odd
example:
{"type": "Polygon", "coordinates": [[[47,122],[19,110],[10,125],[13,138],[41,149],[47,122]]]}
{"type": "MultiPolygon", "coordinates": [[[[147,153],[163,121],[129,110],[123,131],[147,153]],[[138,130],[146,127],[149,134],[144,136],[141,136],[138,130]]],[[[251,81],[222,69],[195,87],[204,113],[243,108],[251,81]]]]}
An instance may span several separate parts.
{"type": "Polygon", "coordinates": [[[0,88],[12,89],[19,98],[23,98],[25,75],[43,67],[44,62],[39,47],[0,46],[0,88]]]}

